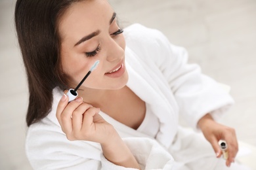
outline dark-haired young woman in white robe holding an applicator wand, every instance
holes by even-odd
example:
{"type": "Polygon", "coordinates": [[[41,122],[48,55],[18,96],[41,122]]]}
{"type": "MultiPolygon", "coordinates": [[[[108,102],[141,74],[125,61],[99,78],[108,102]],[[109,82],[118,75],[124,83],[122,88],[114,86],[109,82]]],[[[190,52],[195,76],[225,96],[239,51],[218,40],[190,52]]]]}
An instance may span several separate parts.
{"type": "Polygon", "coordinates": [[[215,122],[232,98],[160,31],[121,29],[106,0],[18,0],[15,23],[34,169],[226,169],[234,162],[235,131],[215,122]],[[68,102],[64,90],[96,60],[68,102]],[[179,127],[179,114],[209,143],[179,127]],[[220,139],[228,144],[226,162],[220,139]]]}

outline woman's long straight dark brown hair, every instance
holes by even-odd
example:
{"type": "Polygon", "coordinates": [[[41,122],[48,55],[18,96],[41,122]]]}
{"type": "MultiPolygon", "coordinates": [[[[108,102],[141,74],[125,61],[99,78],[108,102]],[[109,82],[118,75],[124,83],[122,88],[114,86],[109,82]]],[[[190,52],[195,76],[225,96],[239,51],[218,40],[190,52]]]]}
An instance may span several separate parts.
{"type": "Polygon", "coordinates": [[[26,116],[28,126],[49,114],[54,88],[58,86],[62,90],[68,89],[68,80],[60,64],[58,20],[77,1],[79,0],[16,1],[16,33],[30,92],[26,116]]]}

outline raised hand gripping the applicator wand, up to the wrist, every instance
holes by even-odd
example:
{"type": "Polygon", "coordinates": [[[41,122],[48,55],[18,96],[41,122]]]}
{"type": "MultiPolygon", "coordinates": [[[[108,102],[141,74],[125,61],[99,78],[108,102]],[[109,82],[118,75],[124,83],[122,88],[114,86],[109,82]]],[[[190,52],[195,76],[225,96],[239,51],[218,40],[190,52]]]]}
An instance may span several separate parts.
{"type": "Polygon", "coordinates": [[[68,103],[68,96],[64,94],[58,103],[56,117],[68,140],[104,144],[117,133],[114,127],[98,114],[99,111],[100,109],[84,103],[82,97],[68,103]]]}

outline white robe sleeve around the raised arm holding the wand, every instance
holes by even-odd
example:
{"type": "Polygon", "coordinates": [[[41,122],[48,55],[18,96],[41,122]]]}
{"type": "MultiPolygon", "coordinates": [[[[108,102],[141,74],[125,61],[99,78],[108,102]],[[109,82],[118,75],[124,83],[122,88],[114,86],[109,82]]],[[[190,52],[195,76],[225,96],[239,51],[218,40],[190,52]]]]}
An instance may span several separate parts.
{"type": "MultiPolygon", "coordinates": [[[[142,169],[172,169],[172,156],[156,141],[142,137],[123,141],[142,169]]],[[[98,143],[68,141],[60,127],[48,118],[29,127],[26,154],[33,169],[133,169],[108,161],[98,143]]]]}

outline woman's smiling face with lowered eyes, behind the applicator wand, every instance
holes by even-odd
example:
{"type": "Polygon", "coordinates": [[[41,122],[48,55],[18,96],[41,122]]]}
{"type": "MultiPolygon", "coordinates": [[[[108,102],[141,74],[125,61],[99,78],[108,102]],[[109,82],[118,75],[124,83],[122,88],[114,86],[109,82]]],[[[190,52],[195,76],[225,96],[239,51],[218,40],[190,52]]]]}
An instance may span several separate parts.
{"type": "Polygon", "coordinates": [[[96,60],[98,67],[81,89],[115,90],[128,80],[125,69],[125,39],[117,25],[116,13],[106,0],[72,4],[58,22],[62,69],[72,88],[88,73],[96,60]]]}

